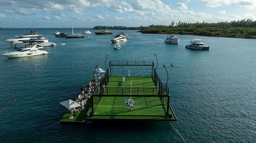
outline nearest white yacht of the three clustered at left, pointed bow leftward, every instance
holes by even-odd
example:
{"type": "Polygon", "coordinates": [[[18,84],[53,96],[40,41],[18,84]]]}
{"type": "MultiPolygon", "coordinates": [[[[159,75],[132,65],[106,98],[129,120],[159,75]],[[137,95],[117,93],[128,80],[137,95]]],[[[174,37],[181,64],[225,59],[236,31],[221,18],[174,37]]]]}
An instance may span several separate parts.
{"type": "Polygon", "coordinates": [[[30,45],[26,46],[24,48],[21,48],[17,51],[2,52],[2,56],[8,57],[8,58],[21,58],[21,57],[30,57],[30,56],[48,54],[48,52],[46,52],[44,50],[38,50],[38,48],[36,48],[37,47],[36,44],[34,44],[34,45],[30,44],[30,45]]]}

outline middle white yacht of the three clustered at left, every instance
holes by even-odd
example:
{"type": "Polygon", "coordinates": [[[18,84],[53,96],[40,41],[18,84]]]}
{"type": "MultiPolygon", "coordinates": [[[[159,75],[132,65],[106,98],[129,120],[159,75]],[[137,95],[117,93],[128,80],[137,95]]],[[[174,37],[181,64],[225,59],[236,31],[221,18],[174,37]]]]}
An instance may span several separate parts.
{"type": "Polygon", "coordinates": [[[19,41],[18,43],[12,43],[14,48],[22,48],[25,47],[27,44],[33,44],[36,43],[39,46],[56,46],[55,43],[51,43],[48,41],[48,39],[45,38],[30,38],[29,40],[23,40],[19,41]]]}

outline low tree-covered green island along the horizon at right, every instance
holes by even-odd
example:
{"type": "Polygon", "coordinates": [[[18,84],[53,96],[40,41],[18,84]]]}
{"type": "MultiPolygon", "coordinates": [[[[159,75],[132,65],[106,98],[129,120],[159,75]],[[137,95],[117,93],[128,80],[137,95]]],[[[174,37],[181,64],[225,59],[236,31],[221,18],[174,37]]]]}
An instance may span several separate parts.
{"type": "Polygon", "coordinates": [[[223,22],[177,22],[172,21],[167,25],[149,25],[140,27],[126,26],[95,26],[93,29],[117,29],[117,30],[139,30],[148,34],[179,34],[179,35],[200,35],[216,37],[253,38],[256,39],[256,21],[243,19],[238,21],[223,22]]]}

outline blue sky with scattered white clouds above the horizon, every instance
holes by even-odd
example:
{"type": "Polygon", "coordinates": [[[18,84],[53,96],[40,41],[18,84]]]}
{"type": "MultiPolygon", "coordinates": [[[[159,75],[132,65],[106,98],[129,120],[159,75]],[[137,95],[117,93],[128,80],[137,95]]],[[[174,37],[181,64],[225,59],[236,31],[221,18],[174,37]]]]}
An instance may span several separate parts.
{"type": "Polygon", "coordinates": [[[256,0],[0,0],[0,27],[169,25],[171,21],[256,20],[256,0]]]}

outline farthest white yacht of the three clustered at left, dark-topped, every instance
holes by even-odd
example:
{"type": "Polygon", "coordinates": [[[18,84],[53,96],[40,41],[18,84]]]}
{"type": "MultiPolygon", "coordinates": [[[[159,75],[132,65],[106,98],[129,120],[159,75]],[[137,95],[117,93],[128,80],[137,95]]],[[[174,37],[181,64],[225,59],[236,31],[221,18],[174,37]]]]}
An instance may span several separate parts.
{"type": "Polygon", "coordinates": [[[7,39],[6,42],[8,42],[9,44],[12,44],[12,43],[22,43],[23,40],[29,40],[30,38],[36,38],[36,37],[40,37],[40,38],[44,38],[42,37],[42,35],[40,34],[37,34],[35,32],[35,30],[31,30],[30,33],[27,33],[25,35],[21,35],[21,36],[14,36],[15,38],[10,38],[10,39],[7,39]]]}

